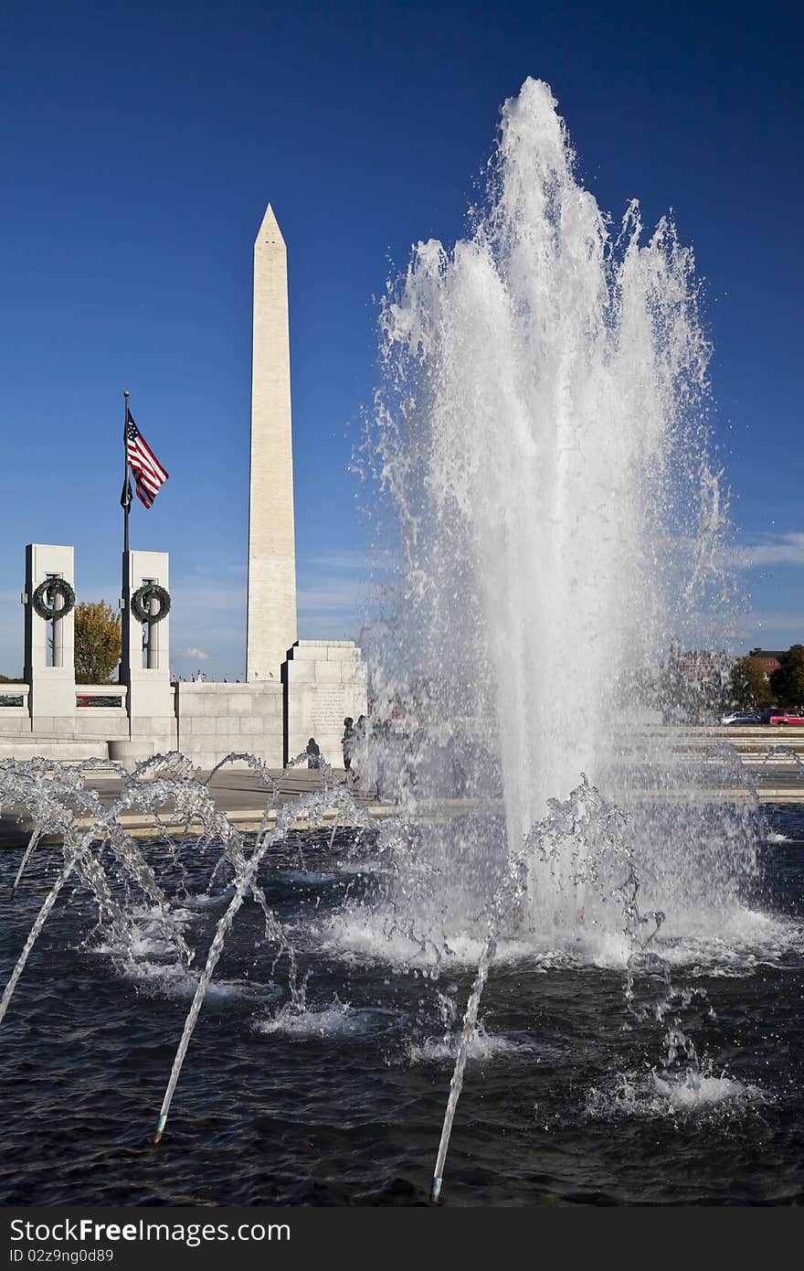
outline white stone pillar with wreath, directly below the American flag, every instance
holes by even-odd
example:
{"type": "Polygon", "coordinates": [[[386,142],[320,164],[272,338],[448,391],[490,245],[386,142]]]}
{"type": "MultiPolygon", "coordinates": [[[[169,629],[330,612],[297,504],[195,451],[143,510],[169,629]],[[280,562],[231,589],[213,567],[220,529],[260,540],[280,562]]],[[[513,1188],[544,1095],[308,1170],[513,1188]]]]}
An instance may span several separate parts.
{"type": "Polygon", "coordinates": [[[170,688],[170,616],[149,627],[150,644],[144,657],[144,624],[131,611],[131,597],[144,583],[169,590],[166,552],[123,553],[123,622],[121,683],[128,686],[130,737],[140,758],[175,749],[177,727],[170,688]],[[147,665],[144,665],[147,662],[147,665]]]}

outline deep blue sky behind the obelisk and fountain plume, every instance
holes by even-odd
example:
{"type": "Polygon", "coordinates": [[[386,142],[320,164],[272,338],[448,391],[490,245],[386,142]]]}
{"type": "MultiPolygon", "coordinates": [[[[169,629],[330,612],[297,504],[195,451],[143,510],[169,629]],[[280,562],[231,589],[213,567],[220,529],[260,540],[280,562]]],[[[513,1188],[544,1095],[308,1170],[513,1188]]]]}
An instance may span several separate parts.
{"type": "Polygon", "coordinates": [[[713,425],[753,608],[735,647],[804,639],[801,10],[697,3],[38,4],[0,17],[0,671],[22,669],[28,541],[119,594],[122,389],[170,472],[132,512],[169,550],[173,670],[243,675],[251,245],[288,245],[300,636],[357,636],[349,473],[375,296],[453,240],[499,105],[559,99],[620,216],[673,208],[706,280],[713,425]],[[183,651],[197,651],[187,652],[183,651]],[[201,653],[208,655],[203,660],[201,653]]]}

